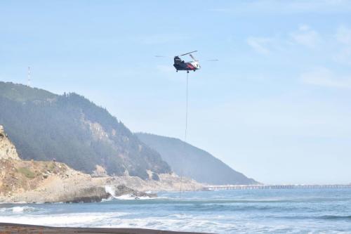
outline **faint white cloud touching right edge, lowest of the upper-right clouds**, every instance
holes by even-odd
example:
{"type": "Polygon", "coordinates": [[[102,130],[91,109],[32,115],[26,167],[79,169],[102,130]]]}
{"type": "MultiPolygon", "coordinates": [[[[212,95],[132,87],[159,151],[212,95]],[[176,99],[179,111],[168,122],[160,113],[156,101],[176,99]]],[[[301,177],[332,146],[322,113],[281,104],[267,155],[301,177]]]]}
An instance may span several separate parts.
{"type": "Polygon", "coordinates": [[[351,76],[338,76],[325,67],[301,74],[300,79],[305,84],[326,86],[339,89],[351,89],[351,76]]]}

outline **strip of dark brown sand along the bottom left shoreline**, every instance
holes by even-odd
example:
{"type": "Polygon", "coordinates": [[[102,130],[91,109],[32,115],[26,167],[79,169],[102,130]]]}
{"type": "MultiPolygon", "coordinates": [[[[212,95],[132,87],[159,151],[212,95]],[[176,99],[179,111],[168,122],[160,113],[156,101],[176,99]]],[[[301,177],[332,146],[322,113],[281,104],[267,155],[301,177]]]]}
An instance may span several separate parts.
{"type": "MultiPolygon", "coordinates": [[[[47,226],[32,226],[17,223],[0,223],[0,234],[98,234],[98,233],[114,233],[114,234],[196,234],[187,232],[174,232],[168,230],[152,230],[140,228],[54,228],[47,226]]],[[[198,233],[200,234],[200,233],[198,233]]],[[[201,233],[204,234],[204,233],[201,233]]]]}

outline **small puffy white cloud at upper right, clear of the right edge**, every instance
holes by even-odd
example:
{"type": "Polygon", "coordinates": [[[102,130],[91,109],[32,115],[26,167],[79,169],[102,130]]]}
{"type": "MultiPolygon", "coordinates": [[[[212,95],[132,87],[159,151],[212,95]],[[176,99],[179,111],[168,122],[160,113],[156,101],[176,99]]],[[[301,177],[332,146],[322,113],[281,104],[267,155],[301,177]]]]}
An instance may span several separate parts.
{"type": "Polygon", "coordinates": [[[291,39],[308,48],[316,48],[322,41],[318,32],[312,30],[308,25],[301,25],[296,32],[291,32],[291,39]]]}

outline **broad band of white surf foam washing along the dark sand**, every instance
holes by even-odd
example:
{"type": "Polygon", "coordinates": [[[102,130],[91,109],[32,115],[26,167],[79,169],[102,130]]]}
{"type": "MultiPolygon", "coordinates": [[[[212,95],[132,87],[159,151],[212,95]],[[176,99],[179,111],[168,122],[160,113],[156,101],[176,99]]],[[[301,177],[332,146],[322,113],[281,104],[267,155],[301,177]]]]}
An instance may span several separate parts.
{"type": "MultiPolygon", "coordinates": [[[[45,226],[95,228],[150,228],[159,230],[197,231],[204,233],[301,233],[305,224],[248,221],[244,217],[211,214],[168,214],[150,216],[146,213],[93,212],[71,214],[13,214],[0,216],[1,222],[45,226]],[[231,221],[223,221],[229,219],[231,221]]],[[[318,229],[317,229],[318,230],[318,229]]],[[[305,232],[302,232],[305,233],[305,232]]],[[[307,232],[306,232],[307,233],[307,232]]],[[[311,232],[319,233],[319,232],[311,232]]],[[[332,232],[323,232],[332,233],[332,232]]]]}

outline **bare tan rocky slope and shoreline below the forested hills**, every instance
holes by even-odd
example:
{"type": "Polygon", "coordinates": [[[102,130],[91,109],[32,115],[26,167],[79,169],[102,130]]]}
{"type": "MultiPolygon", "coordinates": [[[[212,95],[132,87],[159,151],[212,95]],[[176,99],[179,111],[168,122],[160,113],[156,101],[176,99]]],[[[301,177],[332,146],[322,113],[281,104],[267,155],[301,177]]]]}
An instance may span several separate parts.
{"type": "Polygon", "coordinates": [[[92,177],[62,162],[20,160],[15,145],[0,125],[0,203],[100,202],[114,196],[154,197],[150,190],[201,190],[203,186],[175,174],[159,180],[137,176],[92,177]]]}

